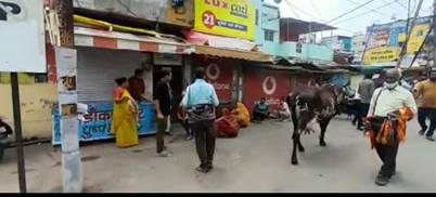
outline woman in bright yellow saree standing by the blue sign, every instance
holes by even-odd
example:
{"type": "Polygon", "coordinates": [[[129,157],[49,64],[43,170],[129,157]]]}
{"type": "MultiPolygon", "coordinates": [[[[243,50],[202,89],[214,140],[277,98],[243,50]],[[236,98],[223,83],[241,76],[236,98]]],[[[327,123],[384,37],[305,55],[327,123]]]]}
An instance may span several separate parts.
{"type": "Polygon", "coordinates": [[[139,144],[138,141],[138,104],[127,91],[126,78],[115,80],[118,88],[114,91],[114,115],[112,119],[111,134],[116,136],[118,147],[131,147],[139,144]]]}

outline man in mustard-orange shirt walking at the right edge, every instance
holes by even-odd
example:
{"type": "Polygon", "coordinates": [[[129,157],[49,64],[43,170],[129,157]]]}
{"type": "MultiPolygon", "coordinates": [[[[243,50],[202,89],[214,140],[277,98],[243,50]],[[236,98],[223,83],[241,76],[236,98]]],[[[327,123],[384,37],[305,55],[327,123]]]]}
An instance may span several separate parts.
{"type": "Polygon", "coordinates": [[[414,93],[415,98],[421,97],[418,109],[418,120],[421,126],[420,134],[426,133],[426,139],[434,142],[433,134],[436,130],[436,68],[432,68],[427,80],[418,83],[414,93]],[[429,119],[429,129],[425,123],[427,118],[429,119]]]}

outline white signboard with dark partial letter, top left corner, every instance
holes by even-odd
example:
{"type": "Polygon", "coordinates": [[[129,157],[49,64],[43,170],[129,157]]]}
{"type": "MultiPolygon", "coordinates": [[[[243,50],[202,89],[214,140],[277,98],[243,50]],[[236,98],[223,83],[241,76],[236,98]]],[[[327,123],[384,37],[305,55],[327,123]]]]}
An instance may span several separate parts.
{"type": "Polygon", "coordinates": [[[0,71],[47,73],[42,0],[0,0],[0,71]]]}

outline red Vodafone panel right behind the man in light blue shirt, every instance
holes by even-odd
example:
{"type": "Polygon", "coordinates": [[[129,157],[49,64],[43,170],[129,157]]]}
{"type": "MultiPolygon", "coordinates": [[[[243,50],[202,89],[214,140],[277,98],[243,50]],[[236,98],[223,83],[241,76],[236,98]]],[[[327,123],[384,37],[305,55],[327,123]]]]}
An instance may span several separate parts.
{"type": "Polygon", "coordinates": [[[194,65],[206,70],[206,81],[214,86],[220,102],[232,100],[233,67],[238,61],[197,56],[194,65]]]}

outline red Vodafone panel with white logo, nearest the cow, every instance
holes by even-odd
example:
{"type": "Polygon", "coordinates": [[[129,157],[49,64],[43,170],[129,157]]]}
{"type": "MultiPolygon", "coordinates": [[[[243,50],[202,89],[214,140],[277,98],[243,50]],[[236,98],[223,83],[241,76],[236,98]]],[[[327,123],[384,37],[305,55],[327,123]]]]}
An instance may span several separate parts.
{"type": "Polygon", "coordinates": [[[253,69],[244,73],[244,104],[252,111],[256,103],[266,97],[270,110],[279,107],[279,100],[292,92],[291,75],[286,71],[253,69]]]}

